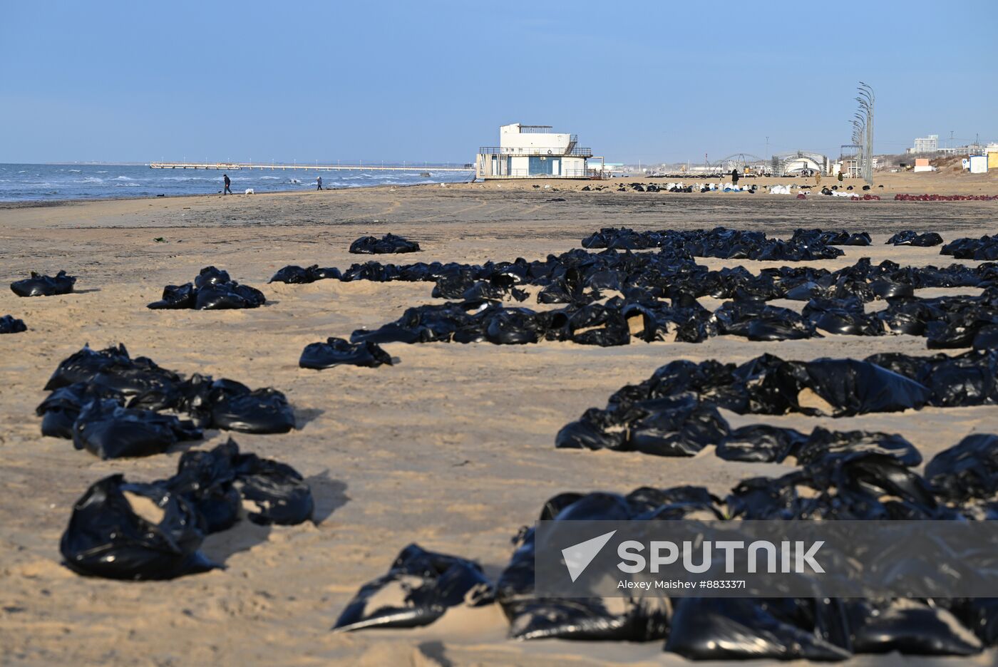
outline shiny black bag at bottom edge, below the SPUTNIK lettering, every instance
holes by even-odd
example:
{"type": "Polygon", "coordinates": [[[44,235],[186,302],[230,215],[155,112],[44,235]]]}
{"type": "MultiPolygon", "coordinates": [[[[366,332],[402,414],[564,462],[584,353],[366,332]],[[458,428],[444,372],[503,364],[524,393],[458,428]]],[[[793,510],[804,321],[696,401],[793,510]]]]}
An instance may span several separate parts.
{"type": "Polygon", "coordinates": [[[845,660],[850,642],[834,599],[685,597],[665,650],[691,660],[845,660]]]}

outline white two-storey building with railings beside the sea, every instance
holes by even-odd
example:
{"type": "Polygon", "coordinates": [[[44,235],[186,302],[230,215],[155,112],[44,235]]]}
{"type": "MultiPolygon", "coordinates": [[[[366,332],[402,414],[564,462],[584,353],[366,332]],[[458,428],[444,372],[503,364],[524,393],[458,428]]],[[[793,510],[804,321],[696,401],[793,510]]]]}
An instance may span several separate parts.
{"type": "Polygon", "coordinates": [[[575,135],[551,132],[547,125],[504,125],[499,146],[478,149],[479,178],[586,178],[591,149],[577,146],[575,135]]]}

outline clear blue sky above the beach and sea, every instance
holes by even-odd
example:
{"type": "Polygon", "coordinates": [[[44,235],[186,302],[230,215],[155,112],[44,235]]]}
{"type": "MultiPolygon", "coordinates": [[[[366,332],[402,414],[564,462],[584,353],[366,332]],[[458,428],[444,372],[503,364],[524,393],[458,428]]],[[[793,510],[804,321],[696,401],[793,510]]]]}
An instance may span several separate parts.
{"type": "Polygon", "coordinates": [[[0,162],[471,162],[516,122],[609,162],[837,155],[858,80],[879,153],[998,141],[995,34],[995,0],[8,0],[0,162]]]}

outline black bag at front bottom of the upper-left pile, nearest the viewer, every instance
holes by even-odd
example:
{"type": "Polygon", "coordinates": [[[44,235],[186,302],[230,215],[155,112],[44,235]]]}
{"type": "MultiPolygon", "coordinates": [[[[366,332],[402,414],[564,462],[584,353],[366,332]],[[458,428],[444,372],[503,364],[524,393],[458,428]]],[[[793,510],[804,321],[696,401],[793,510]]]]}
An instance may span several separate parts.
{"type": "Polygon", "coordinates": [[[101,459],[148,457],[166,452],[179,441],[201,438],[201,429],[190,421],[123,408],[114,399],[91,401],[73,423],[73,446],[101,459]]]}

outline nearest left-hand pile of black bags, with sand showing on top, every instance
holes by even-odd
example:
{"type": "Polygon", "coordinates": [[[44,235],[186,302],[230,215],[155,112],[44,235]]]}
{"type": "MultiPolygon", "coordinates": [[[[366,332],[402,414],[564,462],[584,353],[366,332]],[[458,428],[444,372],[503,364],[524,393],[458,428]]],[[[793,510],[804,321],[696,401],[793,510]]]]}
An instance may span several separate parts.
{"type": "Polygon", "coordinates": [[[243,515],[292,525],[312,510],[311,491],[294,469],[240,454],[230,440],[186,452],[168,480],[131,484],[112,475],[94,483],[73,505],[60,551],[80,574],[171,579],[219,567],[199,551],[202,541],[243,515]]]}

